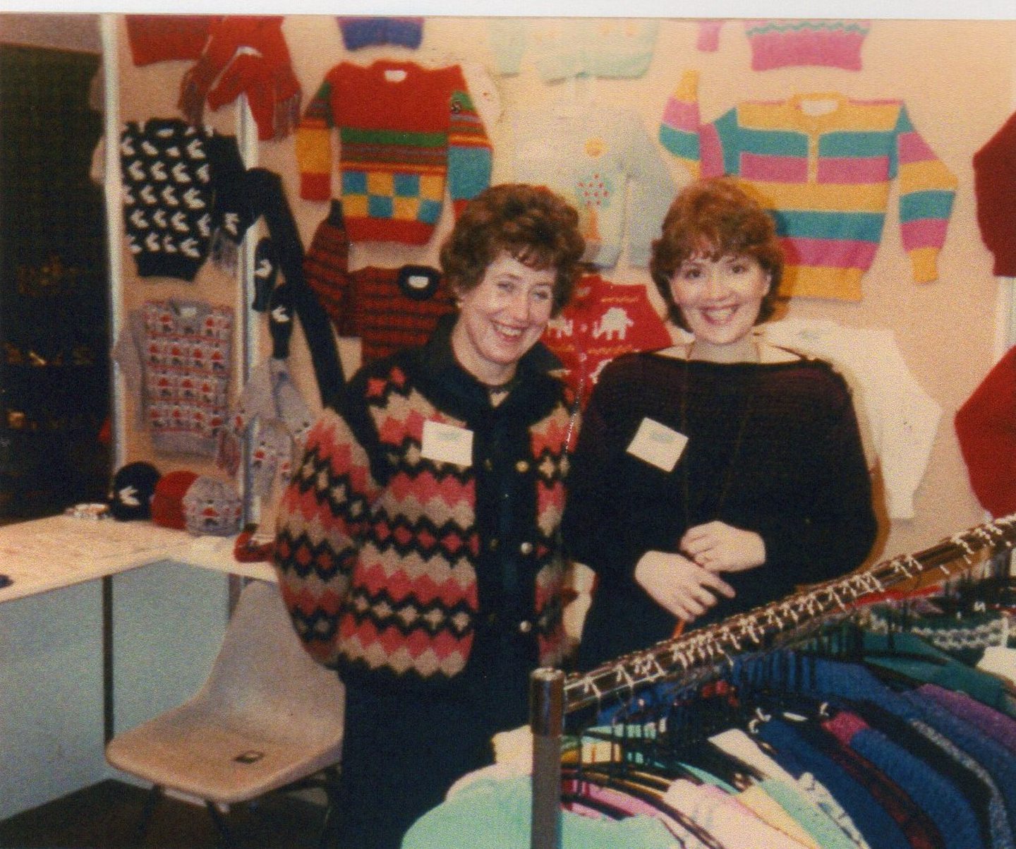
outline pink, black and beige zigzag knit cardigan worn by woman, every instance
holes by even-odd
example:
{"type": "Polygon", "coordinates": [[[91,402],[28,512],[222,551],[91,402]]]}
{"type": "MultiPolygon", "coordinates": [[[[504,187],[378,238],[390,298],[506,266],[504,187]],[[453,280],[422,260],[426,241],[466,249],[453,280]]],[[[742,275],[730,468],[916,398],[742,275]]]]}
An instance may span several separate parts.
{"type": "Polygon", "coordinates": [[[489,552],[497,546],[483,530],[497,522],[482,505],[499,500],[485,490],[484,470],[499,462],[527,477],[516,491],[531,493],[531,501],[515,514],[528,517],[520,533],[532,558],[532,634],[541,664],[560,661],[568,399],[556,380],[520,365],[519,398],[502,406],[520,402],[512,427],[521,436],[515,444],[527,446],[507,458],[499,449],[499,457],[477,426],[490,415],[486,390],[457,365],[435,368],[432,349],[365,366],[341,413],[326,409],[312,428],[280,500],[274,564],[282,597],[308,652],[347,682],[434,684],[463,670],[481,569],[493,565],[489,552]],[[473,430],[469,468],[422,456],[429,421],[473,430]]]}

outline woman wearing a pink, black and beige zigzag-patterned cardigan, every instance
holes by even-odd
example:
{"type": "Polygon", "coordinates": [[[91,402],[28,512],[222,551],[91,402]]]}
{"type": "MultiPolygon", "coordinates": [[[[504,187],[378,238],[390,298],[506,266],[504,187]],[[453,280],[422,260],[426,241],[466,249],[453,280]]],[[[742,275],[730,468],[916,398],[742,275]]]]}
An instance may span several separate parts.
{"type": "Polygon", "coordinates": [[[283,598],[346,686],[342,847],[397,849],[560,662],[573,405],[539,337],[583,248],[547,189],[471,200],[441,249],[457,315],[361,368],[281,498],[283,598]]]}

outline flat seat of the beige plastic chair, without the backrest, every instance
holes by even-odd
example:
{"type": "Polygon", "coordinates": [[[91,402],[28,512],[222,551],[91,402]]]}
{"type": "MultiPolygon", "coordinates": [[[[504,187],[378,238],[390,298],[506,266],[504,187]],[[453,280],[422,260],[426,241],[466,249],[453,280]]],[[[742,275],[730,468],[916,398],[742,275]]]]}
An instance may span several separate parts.
{"type": "Polygon", "coordinates": [[[219,804],[256,798],[335,764],[339,723],[331,740],[312,740],[299,727],[236,726],[211,711],[183,706],[118,734],[107,760],[125,773],[219,804]]]}

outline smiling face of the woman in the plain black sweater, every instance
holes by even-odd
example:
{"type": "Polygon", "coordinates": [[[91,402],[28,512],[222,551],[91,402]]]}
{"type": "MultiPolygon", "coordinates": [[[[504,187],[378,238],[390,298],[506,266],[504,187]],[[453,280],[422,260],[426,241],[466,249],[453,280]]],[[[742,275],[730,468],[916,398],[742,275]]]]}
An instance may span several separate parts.
{"type": "Polygon", "coordinates": [[[755,326],[770,278],[754,256],[697,254],[671,278],[671,293],[696,344],[733,345],[755,326]]]}

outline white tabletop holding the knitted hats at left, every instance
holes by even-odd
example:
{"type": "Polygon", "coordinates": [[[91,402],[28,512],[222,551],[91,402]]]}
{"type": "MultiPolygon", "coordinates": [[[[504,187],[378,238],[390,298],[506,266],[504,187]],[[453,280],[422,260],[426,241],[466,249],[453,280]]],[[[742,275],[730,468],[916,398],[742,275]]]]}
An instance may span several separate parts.
{"type": "Polygon", "coordinates": [[[235,538],[193,536],[150,522],[54,516],[0,527],[0,602],[173,560],[273,581],[270,563],[241,563],[235,538]]]}

